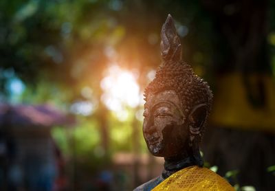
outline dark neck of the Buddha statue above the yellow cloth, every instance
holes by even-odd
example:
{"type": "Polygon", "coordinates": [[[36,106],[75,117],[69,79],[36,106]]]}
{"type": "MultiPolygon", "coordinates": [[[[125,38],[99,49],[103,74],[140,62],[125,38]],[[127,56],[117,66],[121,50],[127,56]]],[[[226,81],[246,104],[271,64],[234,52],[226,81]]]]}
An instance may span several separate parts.
{"type": "Polygon", "coordinates": [[[203,159],[199,153],[199,150],[192,152],[191,155],[188,155],[188,153],[183,153],[177,157],[164,157],[164,160],[164,170],[162,171],[162,177],[164,179],[186,167],[195,165],[200,167],[203,166],[203,159]]]}

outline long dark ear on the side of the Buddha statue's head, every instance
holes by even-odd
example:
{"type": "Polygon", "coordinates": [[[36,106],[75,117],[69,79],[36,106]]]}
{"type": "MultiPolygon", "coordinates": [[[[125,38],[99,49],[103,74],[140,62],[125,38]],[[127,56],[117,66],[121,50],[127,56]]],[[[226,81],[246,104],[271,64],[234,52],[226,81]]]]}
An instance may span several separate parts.
{"type": "Polygon", "coordinates": [[[206,120],[206,115],[206,104],[198,104],[192,109],[188,115],[188,120],[190,122],[190,133],[194,135],[201,133],[201,128],[206,120]]]}

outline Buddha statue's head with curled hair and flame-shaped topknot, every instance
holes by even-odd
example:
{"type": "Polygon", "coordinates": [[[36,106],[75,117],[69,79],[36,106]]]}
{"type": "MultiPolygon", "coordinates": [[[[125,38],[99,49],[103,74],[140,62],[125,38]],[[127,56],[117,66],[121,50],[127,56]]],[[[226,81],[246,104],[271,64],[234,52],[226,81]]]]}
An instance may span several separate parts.
{"type": "Polygon", "coordinates": [[[182,61],[181,43],[170,14],[161,37],[164,63],[144,94],[144,139],[157,157],[200,158],[198,144],[210,113],[212,92],[207,82],[182,61]]]}

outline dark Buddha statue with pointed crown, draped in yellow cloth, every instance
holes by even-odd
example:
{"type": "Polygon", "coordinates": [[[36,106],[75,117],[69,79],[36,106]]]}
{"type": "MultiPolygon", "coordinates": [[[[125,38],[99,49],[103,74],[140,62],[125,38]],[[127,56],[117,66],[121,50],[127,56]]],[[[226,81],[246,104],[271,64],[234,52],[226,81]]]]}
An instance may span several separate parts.
{"type": "Polygon", "coordinates": [[[170,14],[161,38],[164,63],[145,89],[143,135],[150,153],[164,157],[164,170],[135,190],[234,190],[203,167],[199,142],[210,113],[212,91],[182,60],[170,14]]]}

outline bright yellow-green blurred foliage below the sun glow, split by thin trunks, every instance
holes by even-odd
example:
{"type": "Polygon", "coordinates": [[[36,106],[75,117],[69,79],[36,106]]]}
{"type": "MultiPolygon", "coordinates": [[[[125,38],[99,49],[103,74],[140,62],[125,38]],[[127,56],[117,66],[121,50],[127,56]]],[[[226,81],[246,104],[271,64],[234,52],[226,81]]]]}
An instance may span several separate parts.
{"type": "Polygon", "coordinates": [[[63,155],[74,160],[78,165],[88,166],[87,169],[96,170],[109,164],[111,155],[118,152],[133,152],[133,136],[137,137],[140,145],[139,152],[147,152],[142,136],[142,124],[137,122],[137,134],[133,135],[133,109],[128,109],[129,116],[121,122],[115,113],[109,113],[109,148],[102,147],[100,124],[96,117],[78,116],[78,123],[71,128],[55,127],[52,137],[61,149],[63,155]],[[142,144],[141,144],[142,143],[142,144]]]}

